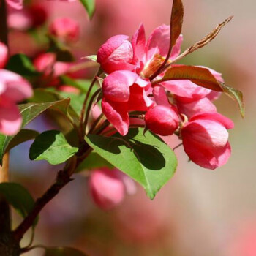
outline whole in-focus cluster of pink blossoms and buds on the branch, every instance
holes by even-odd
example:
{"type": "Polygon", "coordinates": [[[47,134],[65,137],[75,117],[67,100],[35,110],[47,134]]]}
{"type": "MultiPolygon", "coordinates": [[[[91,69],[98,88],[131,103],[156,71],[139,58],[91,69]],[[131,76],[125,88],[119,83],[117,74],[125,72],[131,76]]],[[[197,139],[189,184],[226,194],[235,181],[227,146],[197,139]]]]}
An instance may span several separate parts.
{"type": "MultiPolygon", "coordinates": [[[[233,128],[233,122],[217,113],[212,103],[220,93],[191,80],[161,80],[165,70],[157,74],[168,55],[170,26],[157,27],[146,40],[140,25],[131,42],[128,38],[111,37],[97,53],[107,75],[102,83],[102,112],[110,124],[127,135],[130,113],[142,113],[139,116],[151,132],[178,135],[189,159],[197,165],[208,169],[224,165],[230,157],[227,129],[233,128]]],[[[180,54],[182,41],[180,35],[169,54],[170,69],[177,67],[171,63],[180,54]]],[[[223,82],[218,72],[203,69],[223,82]]]]}

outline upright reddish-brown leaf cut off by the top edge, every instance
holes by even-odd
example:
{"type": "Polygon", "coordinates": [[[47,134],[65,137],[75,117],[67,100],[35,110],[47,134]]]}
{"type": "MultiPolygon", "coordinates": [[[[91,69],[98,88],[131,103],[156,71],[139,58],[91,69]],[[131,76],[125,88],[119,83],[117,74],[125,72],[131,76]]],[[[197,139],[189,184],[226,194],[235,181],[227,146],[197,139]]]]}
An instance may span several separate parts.
{"type": "Polygon", "coordinates": [[[170,21],[172,46],[176,44],[178,36],[181,34],[184,16],[184,7],[181,0],[173,0],[172,18],[170,21]]]}

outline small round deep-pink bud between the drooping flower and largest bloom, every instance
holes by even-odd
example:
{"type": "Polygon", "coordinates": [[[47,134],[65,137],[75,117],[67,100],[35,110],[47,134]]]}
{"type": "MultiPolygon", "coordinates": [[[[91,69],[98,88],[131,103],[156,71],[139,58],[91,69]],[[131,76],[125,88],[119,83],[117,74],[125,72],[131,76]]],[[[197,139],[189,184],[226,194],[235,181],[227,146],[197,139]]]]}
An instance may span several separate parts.
{"type": "Polygon", "coordinates": [[[146,127],[157,135],[172,135],[178,128],[178,115],[174,107],[157,105],[145,115],[146,127]]]}

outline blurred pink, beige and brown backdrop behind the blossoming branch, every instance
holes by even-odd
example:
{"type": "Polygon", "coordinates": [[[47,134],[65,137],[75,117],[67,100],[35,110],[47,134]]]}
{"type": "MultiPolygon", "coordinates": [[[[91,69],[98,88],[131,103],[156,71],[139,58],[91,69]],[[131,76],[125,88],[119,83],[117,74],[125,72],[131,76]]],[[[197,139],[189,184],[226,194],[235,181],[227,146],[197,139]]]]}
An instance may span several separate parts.
{"type": "MultiPolygon", "coordinates": [[[[81,37],[72,46],[78,59],[97,53],[113,35],[132,37],[140,23],[147,35],[162,23],[168,24],[172,4],[171,0],[96,0],[97,9],[90,22],[78,1],[34,2],[45,8],[47,23],[66,16],[78,21],[81,37]]],[[[183,60],[184,64],[222,72],[227,84],[244,92],[244,120],[231,99],[222,96],[217,101],[218,111],[235,122],[230,131],[233,154],[227,165],[214,171],[203,169],[188,162],[183,149],[178,148],[176,174],[153,201],[138,187],[136,195],[127,196],[111,211],[94,206],[88,178],[80,173],[42,211],[34,244],[72,246],[91,256],[256,255],[255,10],[253,0],[184,0],[183,50],[225,18],[235,16],[213,42],[183,60]]],[[[12,53],[34,56],[40,43],[31,33],[18,29],[10,33],[12,53]]],[[[53,124],[37,118],[31,127],[42,131],[53,129],[53,124]]],[[[29,162],[29,145],[23,143],[12,149],[10,170],[12,181],[22,183],[36,198],[61,167],[29,162]]],[[[16,215],[14,219],[14,225],[18,225],[20,219],[16,215]]],[[[23,246],[29,238],[23,239],[23,246]]],[[[40,256],[42,249],[26,255],[40,256]]]]}

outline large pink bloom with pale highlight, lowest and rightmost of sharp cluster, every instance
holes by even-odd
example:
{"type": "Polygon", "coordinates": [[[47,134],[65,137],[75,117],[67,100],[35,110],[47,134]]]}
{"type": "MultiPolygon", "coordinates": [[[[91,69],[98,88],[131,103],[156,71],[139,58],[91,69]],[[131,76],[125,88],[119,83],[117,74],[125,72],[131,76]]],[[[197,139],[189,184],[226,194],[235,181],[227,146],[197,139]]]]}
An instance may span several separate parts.
{"type": "Polygon", "coordinates": [[[201,167],[214,170],[230,157],[227,129],[233,121],[219,113],[201,113],[189,119],[181,129],[184,150],[201,167]]]}

